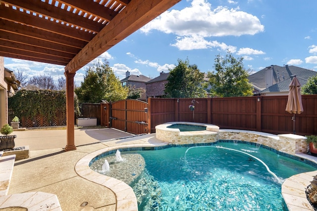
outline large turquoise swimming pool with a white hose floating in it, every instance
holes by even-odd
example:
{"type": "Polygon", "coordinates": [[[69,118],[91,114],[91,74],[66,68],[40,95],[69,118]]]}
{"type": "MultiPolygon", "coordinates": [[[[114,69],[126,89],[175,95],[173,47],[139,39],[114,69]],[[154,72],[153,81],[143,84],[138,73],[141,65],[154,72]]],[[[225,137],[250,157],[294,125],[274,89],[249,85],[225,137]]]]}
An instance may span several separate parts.
{"type": "Polygon", "coordinates": [[[282,211],[281,181],[316,170],[250,143],[123,152],[122,157],[128,162],[134,154],[146,163],[130,184],[140,211],[282,211]]]}

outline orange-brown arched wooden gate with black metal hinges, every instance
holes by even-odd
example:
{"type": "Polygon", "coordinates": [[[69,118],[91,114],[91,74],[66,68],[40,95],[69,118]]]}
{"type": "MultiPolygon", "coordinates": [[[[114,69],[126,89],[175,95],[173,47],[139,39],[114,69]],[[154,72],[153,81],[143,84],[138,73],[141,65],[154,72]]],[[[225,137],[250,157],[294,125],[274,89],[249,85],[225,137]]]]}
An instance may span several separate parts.
{"type": "Polygon", "coordinates": [[[148,103],[120,100],[110,104],[110,127],[133,134],[148,133],[148,103]]]}

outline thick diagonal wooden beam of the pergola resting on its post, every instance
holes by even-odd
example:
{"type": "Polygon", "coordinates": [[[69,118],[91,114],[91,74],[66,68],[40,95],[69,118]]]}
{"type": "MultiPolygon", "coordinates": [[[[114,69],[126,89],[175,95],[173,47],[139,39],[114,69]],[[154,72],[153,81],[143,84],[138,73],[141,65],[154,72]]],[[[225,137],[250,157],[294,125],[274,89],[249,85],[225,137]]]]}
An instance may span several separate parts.
{"type": "Polygon", "coordinates": [[[127,6],[122,12],[117,14],[112,21],[66,65],[65,71],[75,73],[179,1],[180,0],[131,0],[130,4],[132,6],[127,6]]]}

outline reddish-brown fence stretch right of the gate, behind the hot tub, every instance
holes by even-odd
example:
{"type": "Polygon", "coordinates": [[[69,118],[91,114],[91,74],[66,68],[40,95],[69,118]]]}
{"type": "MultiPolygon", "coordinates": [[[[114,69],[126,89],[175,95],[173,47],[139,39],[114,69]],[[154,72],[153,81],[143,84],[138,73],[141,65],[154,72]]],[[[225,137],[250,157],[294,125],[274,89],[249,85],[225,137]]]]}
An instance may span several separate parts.
{"type": "MultiPolygon", "coordinates": [[[[175,121],[200,122],[220,128],[293,133],[292,114],[285,111],[288,96],[224,98],[149,98],[149,128],[175,121]],[[194,111],[189,105],[195,105],[194,111]]],[[[302,95],[304,112],[295,115],[299,135],[317,135],[317,95],[302,95]]]]}

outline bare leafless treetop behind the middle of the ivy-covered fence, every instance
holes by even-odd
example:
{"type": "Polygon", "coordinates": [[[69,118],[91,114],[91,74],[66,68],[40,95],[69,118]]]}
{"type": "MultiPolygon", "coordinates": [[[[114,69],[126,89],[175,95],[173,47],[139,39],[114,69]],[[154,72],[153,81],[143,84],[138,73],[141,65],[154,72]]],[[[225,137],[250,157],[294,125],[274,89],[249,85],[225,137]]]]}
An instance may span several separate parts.
{"type": "Polygon", "coordinates": [[[29,79],[27,89],[50,89],[56,90],[56,84],[54,83],[52,76],[33,76],[29,79]]]}

